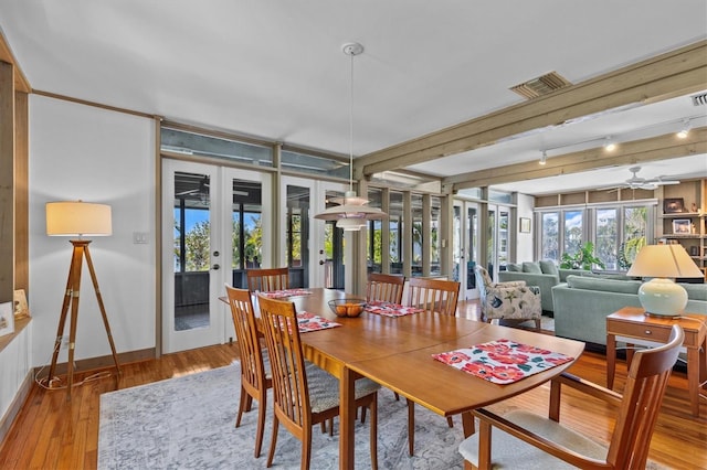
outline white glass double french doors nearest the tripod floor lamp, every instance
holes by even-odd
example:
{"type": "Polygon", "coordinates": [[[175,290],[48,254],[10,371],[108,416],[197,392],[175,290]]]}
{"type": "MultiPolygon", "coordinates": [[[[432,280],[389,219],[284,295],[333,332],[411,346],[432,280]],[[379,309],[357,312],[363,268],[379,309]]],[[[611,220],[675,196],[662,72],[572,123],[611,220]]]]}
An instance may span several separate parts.
{"type": "Polygon", "coordinates": [[[270,175],[166,159],[162,181],[162,352],[226,342],[224,285],[272,261],[270,175]]]}

